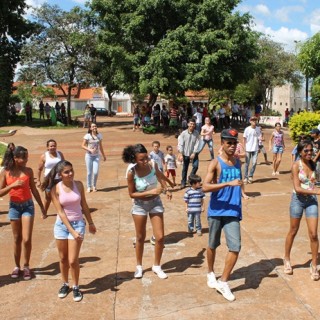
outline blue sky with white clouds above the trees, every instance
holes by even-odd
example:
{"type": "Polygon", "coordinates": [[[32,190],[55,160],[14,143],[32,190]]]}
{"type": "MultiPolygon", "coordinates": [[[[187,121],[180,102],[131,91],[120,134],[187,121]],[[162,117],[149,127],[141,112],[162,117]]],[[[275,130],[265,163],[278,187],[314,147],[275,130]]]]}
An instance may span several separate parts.
{"type": "MultiPolygon", "coordinates": [[[[26,0],[38,7],[46,0],[26,0]]],[[[174,0],[173,0],[174,1],[174,0]]],[[[84,6],[86,0],[49,0],[64,10],[75,5],[84,6]]],[[[273,41],[282,43],[286,50],[294,51],[320,31],[319,0],[242,0],[237,10],[249,12],[253,17],[252,29],[267,34],[273,41]]]]}

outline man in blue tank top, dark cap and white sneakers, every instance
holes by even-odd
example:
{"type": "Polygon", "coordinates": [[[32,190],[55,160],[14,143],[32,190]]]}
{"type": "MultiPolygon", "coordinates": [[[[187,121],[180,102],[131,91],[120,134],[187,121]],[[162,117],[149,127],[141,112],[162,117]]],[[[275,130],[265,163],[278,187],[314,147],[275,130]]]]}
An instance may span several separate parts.
{"type": "Polygon", "coordinates": [[[222,153],[211,161],[203,182],[203,191],[211,192],[208,206],[207,284],[229,301],[234,301],[235,296],[227,281],[241,249],[241,197],[247,198],[243,189],[241,162],[234,157],[237,142],[238,132],[235,129],[225,129],[221,132],[222,153]],[[222,230],[229,252],[221,278],[217,281],[214,274],[214,262],[222,230]]]}

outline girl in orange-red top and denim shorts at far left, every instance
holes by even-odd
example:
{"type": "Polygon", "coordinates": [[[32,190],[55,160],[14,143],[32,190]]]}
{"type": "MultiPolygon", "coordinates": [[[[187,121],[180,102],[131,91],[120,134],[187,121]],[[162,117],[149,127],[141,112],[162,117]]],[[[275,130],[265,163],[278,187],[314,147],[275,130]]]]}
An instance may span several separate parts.
{"type": "Polygon", "coordinates": [[[34,175],[31,168],[26,167],[28,162],[28,150],[18,146],[15,149],[7,149],[4,159],[4,170],[0,174],[0,197],[9,193],[8,216],[13,233],[13,251],[15,268],[11,273],[11,278],[20,276],[21,252],[24,257],[23,279],[31,279],[29,261],[32,248],[32,230],[34,222],[34,203],[32,195],[38,202],[42,218],[46,218],[46,213],[41,201],[41,197],[34,183],[34,175]]]}

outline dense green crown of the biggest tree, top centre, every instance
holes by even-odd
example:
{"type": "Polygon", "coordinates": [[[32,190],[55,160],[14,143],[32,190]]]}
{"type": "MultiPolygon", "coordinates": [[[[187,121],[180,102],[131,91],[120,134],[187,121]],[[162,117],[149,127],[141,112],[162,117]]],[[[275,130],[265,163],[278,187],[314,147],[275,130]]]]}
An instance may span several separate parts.
{"type": "Polygon", "coordinates": [[[119,89],[183,95],[187,89],[232,88],[251,75],[256,34],[240,1],[92,0],[100,25],[103,68],[119,89]]]}

